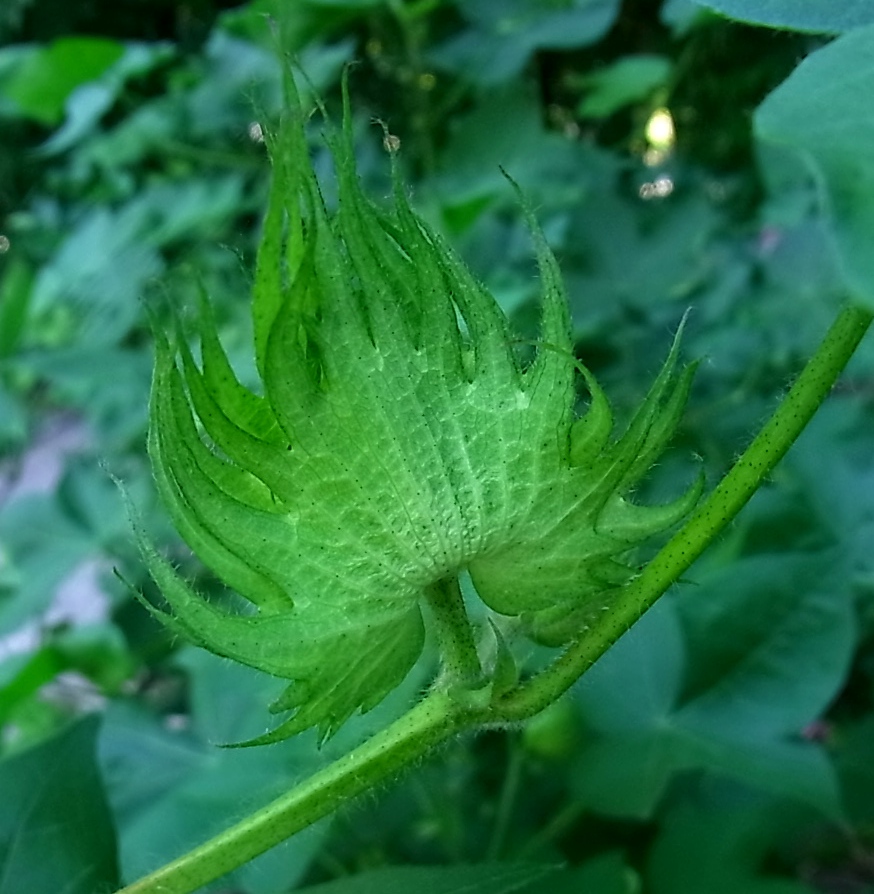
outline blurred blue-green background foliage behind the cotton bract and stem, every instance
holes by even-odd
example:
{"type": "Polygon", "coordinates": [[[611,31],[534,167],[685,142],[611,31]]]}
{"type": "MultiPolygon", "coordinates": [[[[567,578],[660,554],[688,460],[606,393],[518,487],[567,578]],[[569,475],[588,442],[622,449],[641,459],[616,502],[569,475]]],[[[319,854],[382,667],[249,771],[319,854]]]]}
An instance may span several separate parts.
{"type": "MultiPolygon", "coordinates": [[[[279,2],[0,7],[2,894],[134,879],[366,737],[427,681],[426,662],[321,752],[306,735],[218,749],[263,731],[273,681],[169,640],[111,573],[150,586],[106,467],[202,575],[144,457],[144,301],[191,308],[202,283],[250,368],[279,2]]],[[[329,108],[356,61],[365,180],[387,189],[378,118],[416,206],[521,338],[537,283],[499,166],[536,207],[579,356],[620,407],[692,308],[684,350],[706,363],[677,455],[700,453],[715,480],[847,289],[874,294],[870,119],[847,77],[867,69],[846,61],[870,46],[872,17],[853,3],[827,21],[779,0],[709,5],[797,30],[691,0],[290,8],[291,49],[329,108]],[[754,136],[753,110],[841,32],[766,102],[754,136]],[[816,115],[793,107],[822,84],[816,115]],[[647,129],[663,108],[666,144],[647,129]]],[[[327,169],[317,127],[313,151],[327,169]]],[[[874,891],[872,373],[863,345],[773,482],[568,697],[522,729],[454,743],[216,890],[874,891]]],[[[669,458],[647,488],[687,480],[669,458]]]]}

